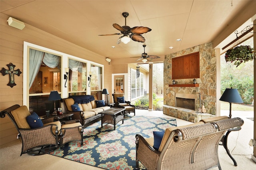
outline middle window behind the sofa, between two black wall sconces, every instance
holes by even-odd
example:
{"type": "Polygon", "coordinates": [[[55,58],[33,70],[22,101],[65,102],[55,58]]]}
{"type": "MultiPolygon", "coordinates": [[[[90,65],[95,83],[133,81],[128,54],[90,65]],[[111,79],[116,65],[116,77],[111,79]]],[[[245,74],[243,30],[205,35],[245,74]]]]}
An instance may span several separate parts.
{"type": "Polygon", "coordinates": [[[68,92],[69,95],[82,95],[86,91],[86,63],[68,59],[68,92]]]}

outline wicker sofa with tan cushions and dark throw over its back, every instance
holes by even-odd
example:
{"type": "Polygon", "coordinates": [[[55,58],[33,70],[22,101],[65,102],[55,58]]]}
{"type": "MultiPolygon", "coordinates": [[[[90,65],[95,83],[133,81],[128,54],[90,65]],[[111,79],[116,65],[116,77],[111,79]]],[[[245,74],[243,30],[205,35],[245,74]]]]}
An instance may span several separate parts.
{"type": "Polygon", "coordinates": [[[100,120],[101,114],[98,113],[110,109],[110,106],[106,105],[103,100],[95,100],[94,96],[91,95],[71,96],[63,100],[66,105],[66,112],[73,113],[72,119],[80,120],[84,127],[100,120]],[[74,105],[78,106],[79,109],[76,107],[74,110],[74,105]]]}

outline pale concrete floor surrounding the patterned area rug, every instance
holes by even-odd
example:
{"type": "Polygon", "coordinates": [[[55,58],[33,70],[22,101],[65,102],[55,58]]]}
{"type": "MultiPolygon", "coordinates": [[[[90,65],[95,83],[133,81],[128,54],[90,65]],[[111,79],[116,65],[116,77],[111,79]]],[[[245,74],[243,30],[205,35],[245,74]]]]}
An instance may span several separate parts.
{"type": "MultiPolygon", "coordinates": [[[[137,109],[136,115],[170,117],[168,115],[164,115],[162,111],[137,109]]],[[[229,115],[229,111],[223,110],[221,111],[221,115],[229,115]]],[[[234,166],[224,147],[219,146],[218,153],[220,166],[222,170],[255,170],[256,163],[251,159],[253,148],[249,145],[250,139],[253,139],[254,121],[247,119],[253,117],[253,112],[232,111],[232,117],[241,117],[244,120],[242,129],[240,131],[231,132],[228,136],[228,149],[236,160],[238,166],[234,166]]],[[[176,122],[178,126],[191,124],[191,122],[177,118],[176,122]]],[[[116,128],[118,128],[118,125],[116,128]]],[[[50,154],[41,156],[30,156],[28,154],[23,154],[20,156],[21,147],[22,144],[17,140],[0,149],[0,170],[102,170],[101,168],[59,158],[50,154]]],[[[218,170],[218,167],[213,168],[213,170],[218,170]]]]}

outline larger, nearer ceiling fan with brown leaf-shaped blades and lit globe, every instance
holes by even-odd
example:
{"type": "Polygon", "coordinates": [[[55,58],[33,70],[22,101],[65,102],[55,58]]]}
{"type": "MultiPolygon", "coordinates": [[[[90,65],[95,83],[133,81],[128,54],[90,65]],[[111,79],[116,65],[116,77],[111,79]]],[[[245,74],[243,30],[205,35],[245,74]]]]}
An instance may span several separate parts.
{"type": "Polygon", "coordinates": [[[150,29],[148,27],[132,27],[131,28],[131,27],[126,25],[126,18],[129,16],[129,13],[128,12],[123,12],[122,15],[125,18],[125,25],[124,26],[121,27],[117,23],[113,23],[113,27],[118,29],[119,31],[121,31],[121,33],[104,34],[104,35],[100,35],[100,36],[123,34],[117,40],[117,42],[116,42],[117,44],[119,44],[120,42],[123,42],[123,43],[127,44],[128,42],[130,42],[130,38],[133,41],[138,41],[138,42],[144,43],[145,38],[142,37],[141,34],[147,33],[149,31],[151,31],[152,29],[150,29]]]}

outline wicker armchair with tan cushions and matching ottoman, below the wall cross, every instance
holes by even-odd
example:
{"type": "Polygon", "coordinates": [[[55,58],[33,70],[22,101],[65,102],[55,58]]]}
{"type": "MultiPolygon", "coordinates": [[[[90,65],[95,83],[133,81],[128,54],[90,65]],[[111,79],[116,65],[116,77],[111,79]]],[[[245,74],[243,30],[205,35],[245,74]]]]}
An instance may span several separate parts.
{"type": "Polygon", "coordinates": [[[8,115],[14,123],[18,137],[22,141],[21,154],[42,155],[57,149],[64,143],[79,140],[82,142],[83,127],[80,123],[70,122],[61,125],[60,121],[43,121],[42,127],[30,128],[26,117],[30,115],[28,107],[14,105],[0,112],[2,118],[8,115]],[[80,135],[78,137],[78,135],[80,135]]]}

